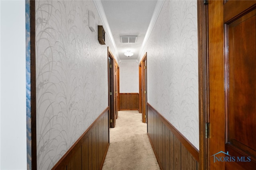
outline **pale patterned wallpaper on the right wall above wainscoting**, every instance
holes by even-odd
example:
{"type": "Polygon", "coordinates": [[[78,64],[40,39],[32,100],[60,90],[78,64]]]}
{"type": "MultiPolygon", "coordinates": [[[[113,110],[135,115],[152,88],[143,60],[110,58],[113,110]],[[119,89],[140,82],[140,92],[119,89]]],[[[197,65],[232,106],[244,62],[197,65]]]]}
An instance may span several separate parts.
{"type": "Polygon", "coordinates": [[[145,47],[148,103],[199,150],[196,0],[168,0],[145,47]]]}

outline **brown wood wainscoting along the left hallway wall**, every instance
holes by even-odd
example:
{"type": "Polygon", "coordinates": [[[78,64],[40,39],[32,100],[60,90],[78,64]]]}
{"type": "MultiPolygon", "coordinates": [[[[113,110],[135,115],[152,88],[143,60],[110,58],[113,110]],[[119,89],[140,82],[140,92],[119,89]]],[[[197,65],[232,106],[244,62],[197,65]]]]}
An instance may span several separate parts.
{"type": "Polygon", "coordinates": [[[52,170],[101,169],[109,147],[107,107],[52,170]]]}

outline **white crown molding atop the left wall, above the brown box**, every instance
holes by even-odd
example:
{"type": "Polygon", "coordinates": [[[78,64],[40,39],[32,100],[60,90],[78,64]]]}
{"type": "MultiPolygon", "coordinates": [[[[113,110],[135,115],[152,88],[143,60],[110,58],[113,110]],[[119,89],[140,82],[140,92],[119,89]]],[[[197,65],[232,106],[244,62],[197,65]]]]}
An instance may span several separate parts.
{"type": "Polygon", "coordinates": [[[114,52],[116,54],[115,59],[117,60],[117,62],[120,61],[119,55],[118,55],[118,50],[116,48],[116,43],[114,41],[114,37],[112,35],[112,32],[110,30],[109,24],[108,24],[108,20],[104,11],[104,8],[102,6],[101,0],[93,0],[96,9],[100,15],[100,19],[102,20],[102,25],[104,27],[104,30],[106,31],[109,39],[110,39],[110,43],[112,44],[113,48],[114,48],[114,52]]]}

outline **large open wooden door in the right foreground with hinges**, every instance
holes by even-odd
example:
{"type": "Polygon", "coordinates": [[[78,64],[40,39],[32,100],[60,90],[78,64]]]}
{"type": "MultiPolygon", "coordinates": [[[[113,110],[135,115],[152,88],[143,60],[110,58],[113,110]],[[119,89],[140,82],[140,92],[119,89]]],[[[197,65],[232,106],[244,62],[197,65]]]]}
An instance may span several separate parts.
{"type": "Polygon", "coordinates": [[[256,1],[211,0],[209,166],[256,168],[256,1]]]}

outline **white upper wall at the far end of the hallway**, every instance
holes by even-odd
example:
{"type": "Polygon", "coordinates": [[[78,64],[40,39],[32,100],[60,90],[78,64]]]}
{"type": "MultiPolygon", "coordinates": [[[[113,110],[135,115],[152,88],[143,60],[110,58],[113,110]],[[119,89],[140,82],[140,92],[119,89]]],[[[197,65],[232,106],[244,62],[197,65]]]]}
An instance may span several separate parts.
{"type": "Polygon", "coordinates": [[[139,92],[139,65],[135,60],[121,60],[120,66],[120,93],[139,92]]]}

